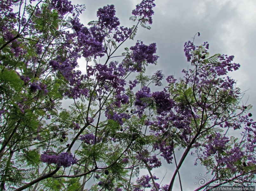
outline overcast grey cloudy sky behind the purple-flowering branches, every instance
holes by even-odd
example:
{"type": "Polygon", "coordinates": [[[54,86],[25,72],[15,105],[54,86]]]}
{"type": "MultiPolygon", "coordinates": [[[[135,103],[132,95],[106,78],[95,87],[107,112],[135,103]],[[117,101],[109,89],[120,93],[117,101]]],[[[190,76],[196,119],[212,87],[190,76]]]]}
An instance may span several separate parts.
{"type": "MultiPolygon", "coordinates": [[[[86,10],[81,16],[84,24],[97,20],[96,11],[99,7],[114,4],[116,15],[121,25],[131,27],[134,23],[129,21],[131,11],[139,0],[83,0],[72,1],[74,4],[83,3],[86,10]]],[[[183,52],[183,45],[188,40],[193,40],[195,33],[200,32],[194,43],[201,45],[208,41],[209,52],[234,55],[235,63],[240,63],[240,70],[230,74],[237,80],[237,87],[246,91],[244,103],[253,104],[256,108],[256,1],[255,0],[155,0],[156,7],[153,16],[152,29],[140,28],[136,40],[145,44],[157,44],[158,65],[148,69],[151,74],[155,70],[163,70],[165,76],[174,75],[181,77],[181,70],[187,68],[189,63],[183,52]]],[[[134,45],[135,41],[126,46],[134,45]]],[[[122,48],[126,47],[123,46],[122,48]]],[[[82,66],[81,66],[82,67],[82,66]]],[[[81,68],[82,70],[82,68],[81,68]]],[[[256,110],[252,113],[256,116],[256,110]]],[[[256,119],[256,118],[254,118],[256,119]]],[[[156,175],[163,178],[162,183],[169,184],[173,172],[172,167],[166,165],[165,169],[155,171],[156,175]]],[[[187,158],[181,168],[183,190],[197,188],[200,173],[205,176],[205,170],[194,167],[194,158],[187,158]],[[189,186],[189,187],[188,187],[189,186]]],[[[209,178],[207,175],[206,178],[209,178]]],[[[178,179],[177,179],[178,180],[178,179]]],[[[176,181],[176,190],[180,190],[176,181]]]]}

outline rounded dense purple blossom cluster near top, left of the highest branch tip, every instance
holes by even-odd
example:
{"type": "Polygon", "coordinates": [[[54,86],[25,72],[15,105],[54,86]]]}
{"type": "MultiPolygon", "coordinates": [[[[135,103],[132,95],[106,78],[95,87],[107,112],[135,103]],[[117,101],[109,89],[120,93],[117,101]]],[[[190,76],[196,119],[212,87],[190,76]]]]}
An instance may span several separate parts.
{"type": "Polygon", "coordinates": [[[112,30],[120,25],[119,19],[115,16],[114,5],[107,5],[98,9],[97,17],[99,17],[99,25],[102,29],[105,27],[112,30]]]}

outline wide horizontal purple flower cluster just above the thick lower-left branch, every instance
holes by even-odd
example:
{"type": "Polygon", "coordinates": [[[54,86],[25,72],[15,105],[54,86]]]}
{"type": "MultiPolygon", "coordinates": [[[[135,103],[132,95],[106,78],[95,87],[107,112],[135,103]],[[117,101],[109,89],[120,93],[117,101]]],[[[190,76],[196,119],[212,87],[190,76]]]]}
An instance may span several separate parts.
{"type": "Polygon", "coordinates": [[[58,167],[69,167],[77,163],[77,159],[71,153],[62,152],[59,155],[50,155],[48,151],[41,155],[41,161],[48,164],[56,164],[58,167]]]}

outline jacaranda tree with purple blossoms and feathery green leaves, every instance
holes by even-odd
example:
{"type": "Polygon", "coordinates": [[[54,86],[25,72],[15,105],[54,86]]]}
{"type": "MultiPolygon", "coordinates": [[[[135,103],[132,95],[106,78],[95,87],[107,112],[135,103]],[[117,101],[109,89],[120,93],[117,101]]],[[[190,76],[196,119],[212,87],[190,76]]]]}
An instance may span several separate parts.
{"type": "Polygon", "coordinates": [[[120,25],[114,5],[85,26],[85,6],[68,0],[0,2],[1,191],[170,191],[175,180],[182,190],[179,169],[189,154],[213,175],[197,190],[253,182],[256,122],[227,76],[240,65],[210,56],[207,42],[188,41],[190,69],[151,91],[164,78],[161,70],[145,73],[157,62],[156,44],[124,45],[140,26],[150,29],[154,6],[136,5],[132,27],[120,25]],[[169,185],[154,175],[163,160],[176,169],[169,185]]]}

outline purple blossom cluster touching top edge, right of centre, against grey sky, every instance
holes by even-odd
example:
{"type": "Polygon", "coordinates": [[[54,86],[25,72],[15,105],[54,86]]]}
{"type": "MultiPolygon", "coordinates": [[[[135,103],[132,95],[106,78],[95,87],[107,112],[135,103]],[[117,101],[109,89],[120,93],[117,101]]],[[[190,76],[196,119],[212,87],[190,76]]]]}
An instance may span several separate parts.
{"type": "Polygon", "coordinates": [[[152,15],[154,15],[153,7],[155,7],[154,0],[142,0],[140,4],[136,5],[136,9],[132,14],[139,16],[141,19],[146,19],[149,24],[152,24],[152,15]]]}

